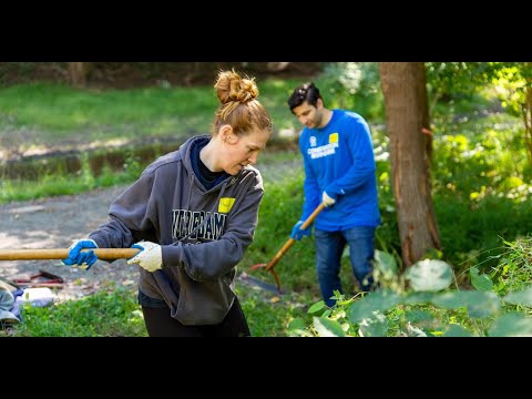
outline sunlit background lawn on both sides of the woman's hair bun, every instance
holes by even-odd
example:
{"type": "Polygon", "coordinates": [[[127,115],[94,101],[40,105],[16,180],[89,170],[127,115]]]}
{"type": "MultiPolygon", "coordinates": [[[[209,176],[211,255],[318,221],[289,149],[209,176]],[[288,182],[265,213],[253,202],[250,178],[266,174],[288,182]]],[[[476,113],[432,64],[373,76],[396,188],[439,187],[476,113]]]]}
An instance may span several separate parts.
{"type": "MultiPolygon", "coordinates": [[[[296,125],[285,105],[296,84],[259,82],[259,100],[278,130],[296,125]]],[[[91,91],[52,83],[13,85],[0,89],[0,143],[23,152],[208,133],[217,106],[212,86],[91,91]]]]}

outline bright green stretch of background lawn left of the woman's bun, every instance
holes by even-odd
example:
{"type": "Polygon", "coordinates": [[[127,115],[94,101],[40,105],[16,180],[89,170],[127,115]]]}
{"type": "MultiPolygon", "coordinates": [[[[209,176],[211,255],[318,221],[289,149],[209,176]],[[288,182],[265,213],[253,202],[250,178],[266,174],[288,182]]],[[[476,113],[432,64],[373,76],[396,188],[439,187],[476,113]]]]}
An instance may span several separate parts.
{"type": "Polygon", "coordinates": [[[3,88],[0,93],[0,109],[12,129],[34,126],[52,143],[64,137],[132,139],[146,131],[151,136],[168,135],[176,124],[182,131],[196,125],[208,132],[217,106],[212,88],[90,91],[33,83],[3,88]]]}

